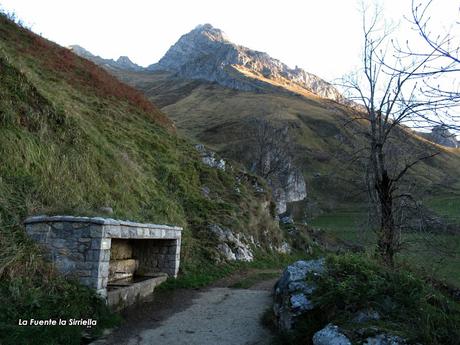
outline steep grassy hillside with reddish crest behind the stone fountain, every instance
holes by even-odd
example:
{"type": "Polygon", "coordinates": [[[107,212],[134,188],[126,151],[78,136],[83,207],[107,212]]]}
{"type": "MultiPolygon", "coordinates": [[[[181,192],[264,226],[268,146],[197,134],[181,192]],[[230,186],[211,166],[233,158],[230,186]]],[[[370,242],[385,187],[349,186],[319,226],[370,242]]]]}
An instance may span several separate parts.
{"type": "Polygon", "coordinates": [[[0,15],[0,343],[80,342],[77,327],[26,329],[19,318],[113,322],[91,291],[44,263],[24,233],[29,215],[110,206],[114,218],[181,225],[181,274],[215,269],[212,222],[254,236],[262,250],[281,241],[257,178],[203,165],[174,132],[141,93],[0,15]]]}

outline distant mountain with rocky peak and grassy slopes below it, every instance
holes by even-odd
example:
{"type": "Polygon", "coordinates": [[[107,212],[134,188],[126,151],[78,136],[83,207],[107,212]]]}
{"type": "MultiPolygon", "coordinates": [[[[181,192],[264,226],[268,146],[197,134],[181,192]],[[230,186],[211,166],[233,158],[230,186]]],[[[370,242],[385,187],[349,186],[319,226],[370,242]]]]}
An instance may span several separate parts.
{"type": "MultiPolygon", "coordinates": [[[[350,121],[350,101],[313,74],[236,45],[207,24],[183,35],[148,70],[111,73],[143,91],[179,132],[248,168],[253,165],[248,119],[288,126],[295,165],[312,200],[333,206],[364,198],[364,168],[354,156],[366,145],[357,135],[363,124],[350,121]]],[[[409,156],[441,151],[415,167],[411,178],[423,186],[420,192],[460,189],[458,151],[420,140],[411,131],[399,131],[394,141],[409,156]]]]}

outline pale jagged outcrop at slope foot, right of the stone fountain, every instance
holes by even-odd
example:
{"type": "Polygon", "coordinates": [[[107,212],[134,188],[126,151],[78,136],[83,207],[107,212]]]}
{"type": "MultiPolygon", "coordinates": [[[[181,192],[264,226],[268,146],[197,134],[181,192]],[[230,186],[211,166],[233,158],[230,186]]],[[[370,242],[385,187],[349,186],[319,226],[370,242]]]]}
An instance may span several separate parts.
{"type": "Polygon", "coordinates": [[[221,256],[228,261],[252,261],[254,255],[244,235],[233,234],[233,232],[218,224],[209,225],[209,231],[213,233],[219,244],[217,250],[221,256]]]}

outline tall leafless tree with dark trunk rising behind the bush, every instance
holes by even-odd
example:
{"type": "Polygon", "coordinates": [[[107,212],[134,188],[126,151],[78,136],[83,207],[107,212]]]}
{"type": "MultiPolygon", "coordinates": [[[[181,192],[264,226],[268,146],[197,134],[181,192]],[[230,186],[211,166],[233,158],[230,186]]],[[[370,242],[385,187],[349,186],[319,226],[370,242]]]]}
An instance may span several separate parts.
{"type": "Polygon", "coordinates": [[[358,104],[350,122],[361,124],[359,134],[366,139],[367,147],[360,155],[364,157],[370,206],[377,219],[377,253],[392,266],[407,225],[404,207],[417,205],[412,183],[404,180],[419,162],[438,154],[428,145],[404,152],[401,143],[413,140],[408,127],[444,123],[439,111],[450,103],[445,97],[429,97],[420,89],[435,52],[408,59],[391,37],[393,28],[381,17],[378,10],[371,15],[363,11],[362,68],[345,79],[343,86],[358,104]]]}

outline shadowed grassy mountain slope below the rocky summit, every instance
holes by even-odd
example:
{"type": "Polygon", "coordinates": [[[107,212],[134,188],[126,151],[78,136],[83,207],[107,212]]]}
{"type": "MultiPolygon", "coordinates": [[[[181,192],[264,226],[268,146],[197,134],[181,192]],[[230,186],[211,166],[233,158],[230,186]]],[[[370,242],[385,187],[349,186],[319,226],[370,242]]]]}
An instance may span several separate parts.
{"type": "MultiPolygon", "coordinates": [[[[280,92],[281,84],[277,88],[267,84],[260,92],[246,92],[179,79],[168,72],[113,73],[158,104],[175,121],[180,133],[243,162],[250,149],[248,118],[264,117],[288,124],[310,198],[326,208],[362,199],[363,168],[353,153],[366,146],[366,142],[356,135],[361,125],[350,123],[347,107],[298,88],[286,86],[280,92]]],[[[416,179],[420,194],[460,191],[460,150],[436,146],[410,132],[398,136],[398,146],[409,155],[427,150],[440,152],[412,172],[410,179],[416,179]]]]}

